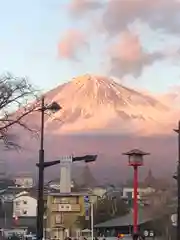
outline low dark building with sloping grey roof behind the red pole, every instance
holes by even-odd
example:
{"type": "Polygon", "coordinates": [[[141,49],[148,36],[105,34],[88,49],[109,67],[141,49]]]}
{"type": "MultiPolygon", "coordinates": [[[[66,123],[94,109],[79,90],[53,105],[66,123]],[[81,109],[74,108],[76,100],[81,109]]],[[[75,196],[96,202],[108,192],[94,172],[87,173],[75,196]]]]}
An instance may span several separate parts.
{"type": "MultiPolygon", "coordinates": [[[[168,214],[152,215],[151,208],[139,208],[138,212],[138,229],[140,233],[147,234],[150,239],[163,236],[167,229],[169,219],[168,214]],[[166,218],[166,224],[162,221],[166,218]]],[[[117,237],[119,233],[131,236],[133,232],[133,211],[130,211],[127,215],[116,217],[108,221],[98,223],[94,226],[98,236],[104,237],[117,237]]],[[[132,239],[130,237],[130,239],[132,239]]],[[[149,238],[148,238],[149,239],[149,238]]],[[[163,238],[164,239],[164,238],[163,238]]]]}

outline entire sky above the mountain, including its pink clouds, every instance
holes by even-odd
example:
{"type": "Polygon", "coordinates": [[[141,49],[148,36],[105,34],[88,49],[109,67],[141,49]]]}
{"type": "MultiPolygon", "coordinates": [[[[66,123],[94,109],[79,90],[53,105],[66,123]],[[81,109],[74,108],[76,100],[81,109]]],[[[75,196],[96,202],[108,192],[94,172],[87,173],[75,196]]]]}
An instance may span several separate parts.
{"type": "Polygon", "coordinates": [[[0,0],[0,10],[1,74],[43,91],[86,73],[153,92],[180,85],[177,0],[0,0]]]}

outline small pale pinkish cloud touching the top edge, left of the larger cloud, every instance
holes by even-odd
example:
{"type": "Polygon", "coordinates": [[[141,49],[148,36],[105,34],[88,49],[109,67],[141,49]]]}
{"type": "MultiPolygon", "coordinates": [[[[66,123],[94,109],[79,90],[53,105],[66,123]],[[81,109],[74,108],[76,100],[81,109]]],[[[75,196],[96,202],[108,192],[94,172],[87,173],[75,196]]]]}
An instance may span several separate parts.
{"type": "Polygon", "coordinates": [[[98,0],[72,0],[69,10],[72,16],[81,17],[88,11],[101,8],[102,4],[98,0]]]}

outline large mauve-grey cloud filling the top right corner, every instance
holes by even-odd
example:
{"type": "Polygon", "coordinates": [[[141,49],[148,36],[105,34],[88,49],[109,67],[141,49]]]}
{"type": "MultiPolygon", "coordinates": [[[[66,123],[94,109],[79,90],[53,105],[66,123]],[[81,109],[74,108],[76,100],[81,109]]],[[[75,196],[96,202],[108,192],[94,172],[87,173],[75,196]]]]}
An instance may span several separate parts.
{"type": "Polygon", "coordinates": [[[109,0],[102,19],[110,35],[118,34],[137,19],[152,28],[178,33],[179,11],[180,2],[176,0],[109,0]]]}

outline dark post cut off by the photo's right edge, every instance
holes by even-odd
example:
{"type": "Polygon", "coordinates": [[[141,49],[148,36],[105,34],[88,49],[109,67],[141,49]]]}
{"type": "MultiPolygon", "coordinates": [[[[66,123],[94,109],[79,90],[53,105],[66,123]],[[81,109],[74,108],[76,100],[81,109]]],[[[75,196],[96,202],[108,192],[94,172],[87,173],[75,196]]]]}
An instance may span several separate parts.
{"type": "Polygon", "coordinates": [[[180,239],[180,121],[178,122],[178,129],[174,129],[178,133],[178,166],[177,166],[177,176],[174,178],[177,180],[178,187],[178,206],[177,206],[177,240],[180,239]]]}

